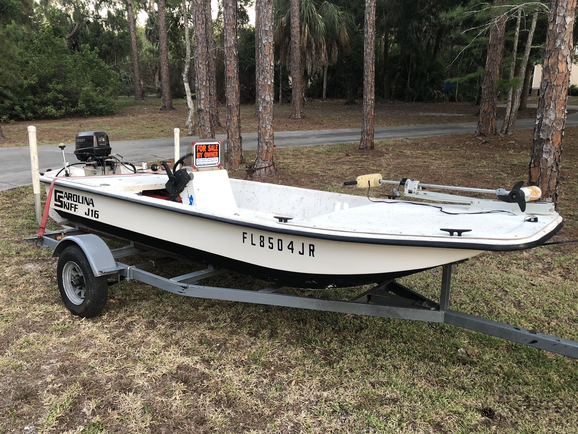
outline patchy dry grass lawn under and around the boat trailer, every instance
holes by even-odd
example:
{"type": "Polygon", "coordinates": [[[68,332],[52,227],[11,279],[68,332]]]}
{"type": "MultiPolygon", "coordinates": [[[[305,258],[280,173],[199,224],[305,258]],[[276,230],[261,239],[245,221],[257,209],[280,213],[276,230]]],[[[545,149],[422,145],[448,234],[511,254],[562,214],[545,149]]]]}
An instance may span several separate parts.
{"type": "MultiPolygon", "coordinates": [[[[520,131],[384,141],[371,152],[316,146],[307,159],[277,149],[269,181],[365,194],[342,182],[379,171],[510,187],[525,179],[530,143],[520,131]]],[[[578,128],[566,130],[563,160],[555,240],[578,238],[578,128]]],[[[112,286],[101,317],[73,317],[56,260],[22,242],[37,229],[33,213],[31,187],[0,193],[0,432],[576,432],[578,361],[454,326],[188,299],[132,281],[112,286]]],[[[576,244],[484,253],[454,267],[451,307],[578,340],[577,260],[576,244]]],[[[439,270],[401,279],[434,298],[440,280],[439,270]]],[[[206,284],[265,282],[232,274],[206,284]]]]}

